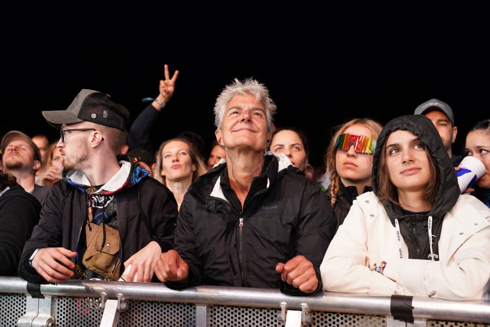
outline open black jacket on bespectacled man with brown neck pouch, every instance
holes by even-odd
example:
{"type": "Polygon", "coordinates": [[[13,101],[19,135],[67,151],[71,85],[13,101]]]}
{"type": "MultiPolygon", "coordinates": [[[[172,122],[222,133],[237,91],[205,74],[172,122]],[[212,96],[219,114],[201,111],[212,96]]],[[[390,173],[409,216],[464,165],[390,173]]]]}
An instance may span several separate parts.
{"type": "MultiPolygon", "coordinates": [[[[64,247],[77,251],[87,217],[88,196],[65,180],[56,182],[41,210],[41,220],[26,242],[19,262],[19,276],[31,283],[45,282],[29,257],[36,248],[64,247]]],[[[121,238],[119,256],[125,262],[151,241],[162,251],[173,247],[177,202],[160,182],[144,177],[116,193],[117,222],[121,238]]],[[[121,265],[124,269],[124,265],[121,265]]]]}

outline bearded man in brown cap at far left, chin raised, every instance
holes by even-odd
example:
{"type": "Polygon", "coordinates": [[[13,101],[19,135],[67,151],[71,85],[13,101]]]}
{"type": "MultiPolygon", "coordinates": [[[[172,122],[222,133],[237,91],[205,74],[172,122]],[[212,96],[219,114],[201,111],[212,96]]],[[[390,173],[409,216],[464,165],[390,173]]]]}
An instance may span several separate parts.
{"type": "Polygon", "coordinates": [[[31,137],[21,131],[10,131],[2,138],[2,161],[7,173],[15,176],[17,183],[44,203],[51,186],[35,183],[36,172],[41,168],[41,152],[31,137]]]}

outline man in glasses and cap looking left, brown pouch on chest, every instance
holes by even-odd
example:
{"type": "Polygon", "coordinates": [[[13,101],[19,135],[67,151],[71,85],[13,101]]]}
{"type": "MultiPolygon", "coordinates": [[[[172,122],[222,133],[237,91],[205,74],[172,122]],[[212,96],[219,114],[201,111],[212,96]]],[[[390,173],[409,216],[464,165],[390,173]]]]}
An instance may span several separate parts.
{"type": "Polygon", "coordinates": [[[160,253],[173,247],[177,203],[148,171],[117,157],[129,111],[83,89],[66,110],[42,114],[61,129],[63,180],[46,198],[19,276],[31,283],[117,280],[131,265],[130,281],[151,282],[160,253]]]}

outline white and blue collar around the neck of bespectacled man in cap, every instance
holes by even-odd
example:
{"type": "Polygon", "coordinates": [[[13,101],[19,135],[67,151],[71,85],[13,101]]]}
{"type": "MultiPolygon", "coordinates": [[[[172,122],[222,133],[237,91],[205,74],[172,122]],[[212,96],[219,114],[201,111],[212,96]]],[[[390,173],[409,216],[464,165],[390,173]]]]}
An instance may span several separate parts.
{"type": "MultiPolygon", "coordinates": [[[[135,161],[130,162],[122,159],[119,160],[119,165],[121,168],[114,176],[112,176],[111,179],[109,179],[95,192],[89,193],[99,195],[114,194],[123,189],[131,188],[133,185],[136,185],[144,177],[150,174],[149,171],[137,165],[135,161]]],[[[99,186],[90,185],[90,181],[88,180],[87,176],[85,176],[84,173],[75,170],[63,171],[63,179],[82,192],[86,192],[86,190],[92,186],[99,186]]]]}

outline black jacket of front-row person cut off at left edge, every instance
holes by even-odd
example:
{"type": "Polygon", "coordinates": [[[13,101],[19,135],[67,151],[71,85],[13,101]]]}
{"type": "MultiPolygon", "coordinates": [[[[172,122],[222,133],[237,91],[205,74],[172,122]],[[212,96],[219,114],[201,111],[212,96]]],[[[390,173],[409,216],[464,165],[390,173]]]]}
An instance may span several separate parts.
{"type": "Polygon", "coordinates": [[[22,248],[39,221],[40,211],[39,201],[20,185],[0,196],[0,275],[17,275],[22,248]]]}

